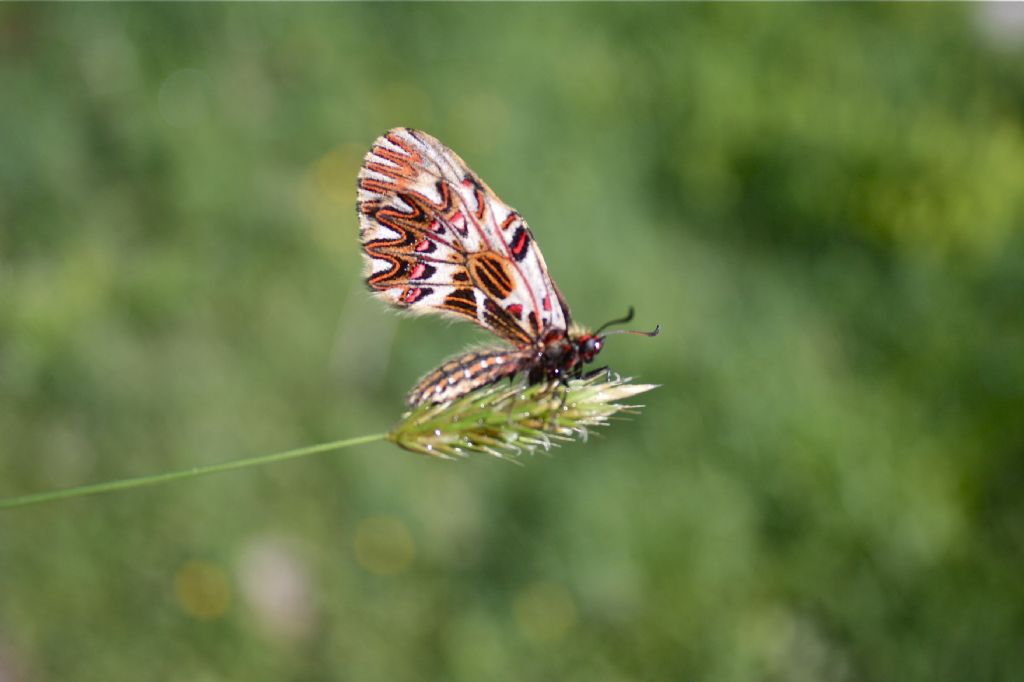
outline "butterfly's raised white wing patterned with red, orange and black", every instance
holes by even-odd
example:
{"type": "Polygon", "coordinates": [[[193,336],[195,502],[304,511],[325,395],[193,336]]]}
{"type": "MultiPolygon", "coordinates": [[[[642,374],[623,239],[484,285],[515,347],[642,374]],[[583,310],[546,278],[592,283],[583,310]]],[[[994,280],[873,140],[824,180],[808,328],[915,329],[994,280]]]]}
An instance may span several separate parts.
{"type": "Polygon", "coordinates": [[[374,142],[358,213],[367,283],[389,303],[471,319],[520,348],[568,327],[525,221],[430,135],[395,128],[374,142]]]}

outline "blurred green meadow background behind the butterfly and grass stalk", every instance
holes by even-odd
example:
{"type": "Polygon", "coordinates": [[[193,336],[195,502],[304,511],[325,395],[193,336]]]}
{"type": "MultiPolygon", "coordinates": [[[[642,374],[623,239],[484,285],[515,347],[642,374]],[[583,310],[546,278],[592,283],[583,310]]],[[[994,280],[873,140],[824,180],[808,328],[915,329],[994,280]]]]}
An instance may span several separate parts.
{"type": "Polygon", "coordinates": [[[0,496],[387,429],[485,335],[360,281],[422,128],[638,418],[0,513],[0,680],[1012,680],[1020,7],[0,7],[0,496]]]}

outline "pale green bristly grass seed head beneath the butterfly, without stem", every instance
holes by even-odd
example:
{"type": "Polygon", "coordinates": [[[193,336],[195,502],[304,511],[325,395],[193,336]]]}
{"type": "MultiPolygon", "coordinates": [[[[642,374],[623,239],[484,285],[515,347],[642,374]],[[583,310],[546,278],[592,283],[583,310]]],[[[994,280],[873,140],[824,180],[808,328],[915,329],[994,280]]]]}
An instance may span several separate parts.
{"type": "Polygon", "coordinates": [[[454,459],[471,453],[498,458],[550,450],[562,441],[586,439],[618,413],[643,406],[616,402],[656,388],[628,378],[600,374],[573,379],[568,386],[494,384],[444,404],[422,404],[407,413],[388,434],[414,453],[454,459]]]}

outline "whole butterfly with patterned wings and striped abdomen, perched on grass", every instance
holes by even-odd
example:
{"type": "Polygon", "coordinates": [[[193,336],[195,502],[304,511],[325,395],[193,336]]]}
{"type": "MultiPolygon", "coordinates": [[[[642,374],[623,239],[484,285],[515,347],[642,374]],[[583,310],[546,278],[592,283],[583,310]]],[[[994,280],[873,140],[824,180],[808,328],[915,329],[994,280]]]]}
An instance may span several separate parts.
{"type": "Polygon", "coordinates": [[[445,361],[410,391],[410,406],[449,402],[521,372],[530,384],[565,383],[600,352],[605,328],[633,316],[631,308],[593,333],[573,324],[526,221],[420,130],[377,138],[356,209],[374,294],[409,312],[470,319],[511,344],[445,361]]]}

